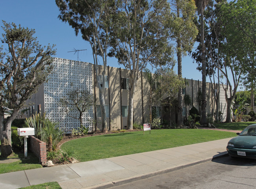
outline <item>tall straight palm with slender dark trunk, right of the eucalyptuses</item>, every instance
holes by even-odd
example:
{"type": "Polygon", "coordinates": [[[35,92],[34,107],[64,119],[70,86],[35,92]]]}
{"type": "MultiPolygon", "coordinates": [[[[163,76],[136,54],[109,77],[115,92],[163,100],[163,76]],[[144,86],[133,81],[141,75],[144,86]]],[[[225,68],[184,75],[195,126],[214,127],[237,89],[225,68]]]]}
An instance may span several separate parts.
{"type": "Polygon", "coordinates": [[[201,46],[202,46],[202,114],[201,114],[201,124],[206,123],[206,59],[204,50],[204,9],[208,3],[208,0],[195,0],[198,15],[200,15],[201,22],[201,46]]]}

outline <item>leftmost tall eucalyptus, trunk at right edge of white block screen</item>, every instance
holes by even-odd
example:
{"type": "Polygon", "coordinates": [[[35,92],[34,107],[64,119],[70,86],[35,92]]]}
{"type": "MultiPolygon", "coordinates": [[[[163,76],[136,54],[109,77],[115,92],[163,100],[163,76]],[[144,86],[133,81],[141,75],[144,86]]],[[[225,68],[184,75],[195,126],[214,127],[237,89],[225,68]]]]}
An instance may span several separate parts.
{"type": "Polygon", "coordinates": [[[109,26],[111,25],[111,13],[115,11],[115,1],[56,0],[56,4],[60,10],[59,19],[63,22],[68,22],[69,25],[74,28],[76,35],[81,32],[82,38],[91,45],[97,86],[99,89],[102,132],[108,132],[104,91],[105,81],[108,82],[106,69],[109,26]],[[98,55],[102,58],[102,71],[100,71],[98,55]]]}

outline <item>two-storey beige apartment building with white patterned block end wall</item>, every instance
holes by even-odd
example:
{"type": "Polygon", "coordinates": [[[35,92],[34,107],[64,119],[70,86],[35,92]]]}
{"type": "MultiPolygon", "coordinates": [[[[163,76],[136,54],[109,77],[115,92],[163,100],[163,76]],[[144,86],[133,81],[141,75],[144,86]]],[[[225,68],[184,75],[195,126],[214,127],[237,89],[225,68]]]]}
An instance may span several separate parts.
{"type": "MultiPolygon", "coordinates": [[[[48,81],[43,83],[36,94],[32,95],[25,110],[25,116],[31,116],[35,112],[45,113],[46,117],[52,121],[57,121],[59,126],[66,130],[78,128],[80,122],[77,119],[68,117],[59,105],[59,99],[63,97],[73,86],[74,88],[89,90],[95,98],[98,98],[98,87],[96,84],[96,73],[94,65],[88,62],[72,61],[61,58],[54,58],[54,69],[48,76],[48,81]]],[[[99,68],[99,70],[102,67],[99,68]]],[[[192,105],[183,107],[184,118],[188,115],[189,109],[195,106],[200,110],[197,101],[198,91],[201,90],[202,82],[193,79],[186,79],[186,88],[183,94],[189,94],[192,99],[192,105]]],[[[103,79],[105,82],[105,109],[108,119],[109,130],[125,129],[127,127],[128,114],[128,95],[129,85],[127,72],[121,68],[107,67],[107,73],[103,79]]],[[[158,83],[156,83],[157,87],[158,83]]],[[[215,112],[215,103],[211,91],[211,83],[207,83],[207,112],[212,114],[215,112]]],[[[149,122],[149,102],[150,89],[145,74],[140,74],[136,90],[134,94],[134,122],[143,124],[149,122]]],[[[153,102],[153,108],[156,110],[157,116],[162,116],[165,107],[161,107],[159,103],[153,102]],[[162,110],[162,111],[161,111],[162,110]]],[[[224,91],[221,91],[220,111],[223,112],[222,121],[226,118],[226,101],[224,91]]],[[[176,106],[171,108],[171,119],[176,122],[176,106]]],[[[76,112],[71,112],[72,116],[76,112]]],[[[170,115],[170,114],[169,114],[170,115]]],[[[97,120],[97,127],[100,128],[101,112],[99,101],[96,106],[84,113],[83,123],[86,127],[92,127],[89,119],[97,120]]]]}

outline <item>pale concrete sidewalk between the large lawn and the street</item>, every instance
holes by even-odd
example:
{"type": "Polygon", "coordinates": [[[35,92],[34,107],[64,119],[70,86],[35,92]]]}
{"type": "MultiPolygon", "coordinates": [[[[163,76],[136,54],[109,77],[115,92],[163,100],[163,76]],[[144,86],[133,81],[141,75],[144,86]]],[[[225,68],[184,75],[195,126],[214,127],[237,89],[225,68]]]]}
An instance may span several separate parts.
{"type": "Polygon", "coordinates": [[[231,138],[102,160],[0,174],[0,189],[57,181],[63,189],[110,188],[226,154],[231,138]]]}

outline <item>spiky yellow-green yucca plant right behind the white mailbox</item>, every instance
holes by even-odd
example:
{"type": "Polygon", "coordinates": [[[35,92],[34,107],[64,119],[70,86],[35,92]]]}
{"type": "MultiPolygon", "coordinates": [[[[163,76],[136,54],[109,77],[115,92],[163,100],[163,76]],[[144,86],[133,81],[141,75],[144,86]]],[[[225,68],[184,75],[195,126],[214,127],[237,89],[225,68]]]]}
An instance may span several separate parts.
{"type": "Polygon", "coordinates": [[[32,117],[26,118],[25,124],[27,127],[35,128],[35,136],[41,139],[41,129],[45,126],[45,114],[33,114],[32,117]]]}

